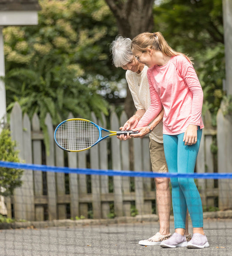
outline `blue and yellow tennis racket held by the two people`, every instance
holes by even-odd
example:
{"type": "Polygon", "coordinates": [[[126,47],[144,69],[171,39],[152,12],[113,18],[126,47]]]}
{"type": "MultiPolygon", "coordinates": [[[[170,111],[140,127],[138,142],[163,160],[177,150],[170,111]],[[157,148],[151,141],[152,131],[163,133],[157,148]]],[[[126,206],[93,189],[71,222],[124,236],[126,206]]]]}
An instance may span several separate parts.
{"type": "Polygon", "coordinates": [[[89,120],[72,118],[57,126],[54,139],[61,149],[68,152],[79,152],[90,149],[104,138],[113,135],[127,135],[128,133],[138,133],[138,131],[109,131],[89,120]]]}

